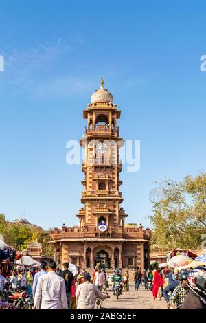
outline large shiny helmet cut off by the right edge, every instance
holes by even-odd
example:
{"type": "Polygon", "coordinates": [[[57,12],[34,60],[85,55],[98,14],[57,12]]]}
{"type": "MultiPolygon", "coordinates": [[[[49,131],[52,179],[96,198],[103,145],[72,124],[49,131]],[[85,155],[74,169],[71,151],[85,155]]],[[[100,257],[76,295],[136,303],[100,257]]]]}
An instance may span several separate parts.
{"type": "Polygon", "coordinates": [[[187,285],[199,297],[206,300],[206,267],[196,267],[188,273],[187,285]]]}

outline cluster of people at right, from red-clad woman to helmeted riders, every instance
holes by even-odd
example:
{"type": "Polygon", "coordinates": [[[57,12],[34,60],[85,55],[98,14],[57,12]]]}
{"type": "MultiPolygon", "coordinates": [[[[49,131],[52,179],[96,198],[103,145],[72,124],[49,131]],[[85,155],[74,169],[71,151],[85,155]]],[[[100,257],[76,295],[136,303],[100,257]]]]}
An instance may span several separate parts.
{"type": "Polygon", "coordinates": [[[163,297],[168,309],[206,309],[206,267],[182,269],[165,266],[152,271],[154,300],[163,297]]]}

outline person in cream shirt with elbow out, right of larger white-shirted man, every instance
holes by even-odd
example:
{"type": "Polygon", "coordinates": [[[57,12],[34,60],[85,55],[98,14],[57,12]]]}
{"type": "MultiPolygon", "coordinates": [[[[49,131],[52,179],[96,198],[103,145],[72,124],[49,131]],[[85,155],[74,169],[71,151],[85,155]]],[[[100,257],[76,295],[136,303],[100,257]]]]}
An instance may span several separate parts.
{"type": "Polygon", "coordinates": [[[81,284],[76,289],[76,309],[94,309],[95,297],[104,300],[107,296],[101,293],[98,286],[90,282],[91,276],[88,273],[83,273],[80,277],[81,284]]]}

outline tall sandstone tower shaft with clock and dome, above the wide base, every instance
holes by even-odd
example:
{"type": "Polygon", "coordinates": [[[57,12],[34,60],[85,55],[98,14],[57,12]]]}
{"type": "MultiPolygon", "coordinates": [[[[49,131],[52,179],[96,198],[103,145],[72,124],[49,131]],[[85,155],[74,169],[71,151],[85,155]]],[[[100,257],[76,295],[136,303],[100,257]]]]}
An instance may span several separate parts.
{"type": "Polygon", "coordinates": [[[117,104],[113,104],[113,96],[104,88],[102,78],[100,89],[93,93],[91,104],[83,112],[87,119],[85,137],[80,141],[85,150],[81,200],[85,205],[85,215],[84,219],[79,215],[80,226],[99,225],[104,221],[108,228],[114,225],[124,227],[127,215],[122,208],[120,210],[123,199],[119,191],[122,185],[119,148],[123,144],[117,126],[120,112],[117,104]]]}

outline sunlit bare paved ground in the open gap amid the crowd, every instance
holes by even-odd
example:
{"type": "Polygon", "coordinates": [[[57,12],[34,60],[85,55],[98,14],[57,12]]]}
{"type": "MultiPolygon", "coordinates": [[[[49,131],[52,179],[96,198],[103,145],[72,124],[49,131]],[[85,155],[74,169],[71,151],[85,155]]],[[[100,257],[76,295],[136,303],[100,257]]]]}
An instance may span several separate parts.
{"type": "Polygon", "coordinates": [[[111,288],[107,293],[111,298],[102,302],[102,307],[106,309],[167,309],[164,298],[153,300],[152,291],[145,291],[144,286],[135,291],[134,283],[130,284],[130,291],[123,292],[118,300],[113,296],[111,288]]]}

